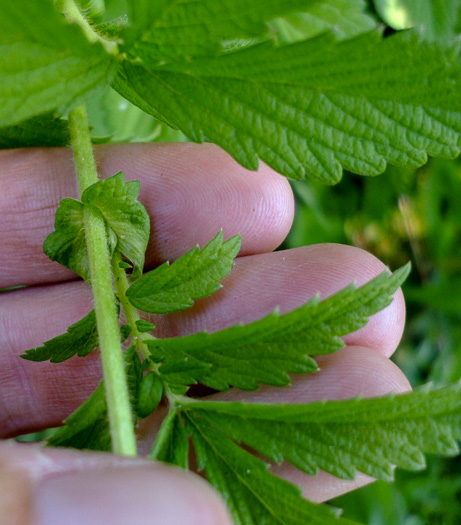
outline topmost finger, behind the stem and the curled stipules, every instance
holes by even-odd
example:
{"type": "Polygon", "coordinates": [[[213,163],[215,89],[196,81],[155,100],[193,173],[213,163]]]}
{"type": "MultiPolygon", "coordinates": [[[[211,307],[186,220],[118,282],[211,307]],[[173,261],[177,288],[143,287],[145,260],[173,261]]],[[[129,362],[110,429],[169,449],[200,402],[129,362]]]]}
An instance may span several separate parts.
{"type": "MultiPolygon", "coordinates": [[[[262,165],[248,171],[211,144],[124,144],[95,148],[103,177],[141,181],[151,216],[147,266],[203,246],[222,228],[242,234],[242,254],[276,248],[293,220],[287,180],[262,165]]],[[[77,198],[71,151],[30,148],[0,155],[0,288],[76,278],[43,253],[61,199],[77,198]]]]}

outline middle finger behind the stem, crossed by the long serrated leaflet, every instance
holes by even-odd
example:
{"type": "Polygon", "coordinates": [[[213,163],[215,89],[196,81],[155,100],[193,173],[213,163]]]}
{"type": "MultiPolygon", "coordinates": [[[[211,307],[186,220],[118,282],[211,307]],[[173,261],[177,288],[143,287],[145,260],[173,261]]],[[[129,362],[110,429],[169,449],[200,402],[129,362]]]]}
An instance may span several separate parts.
{"type": "MultiPolygon", "coordinates": [[[[382,269],[382,263],[367,252],[340,245],[243,257],[217,294],[197,301],[188,311],[153,320],[161,337],[204,328],[216,331],[258,319],[277,305],[282,311],[291,310],[317,292],[325,297],[353,280],[368,281],[382,269]]],[[[59,425],[95,388],[100,377],[95,353],[61,364],[18,358],[26,349],[65,332],[90,308],[89,288],[80,281],[2,296],[0,432],[4,437],[59,425]]],[[[404,317],[404,302],[398,292],[390,306],[345,339],[348,344],[390,355],[400,339],[404,317]]]]}

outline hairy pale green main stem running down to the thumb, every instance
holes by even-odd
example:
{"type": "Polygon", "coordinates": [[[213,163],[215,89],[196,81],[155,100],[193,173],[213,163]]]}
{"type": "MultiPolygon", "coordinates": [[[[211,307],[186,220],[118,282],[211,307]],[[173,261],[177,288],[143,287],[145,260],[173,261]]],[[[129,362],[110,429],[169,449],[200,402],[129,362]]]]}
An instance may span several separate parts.
{"type": "MultiPolygon", "coordinates": [[[[98,182],[84,105],[70,112],[69,130],[82,194],[88,186],[98,182]]],[[[101,214],[90,206],[85,206],[83,219],[112,448],[116,454],[135,456],[136,439],[120,342],[106,225],[101,214]]]]}

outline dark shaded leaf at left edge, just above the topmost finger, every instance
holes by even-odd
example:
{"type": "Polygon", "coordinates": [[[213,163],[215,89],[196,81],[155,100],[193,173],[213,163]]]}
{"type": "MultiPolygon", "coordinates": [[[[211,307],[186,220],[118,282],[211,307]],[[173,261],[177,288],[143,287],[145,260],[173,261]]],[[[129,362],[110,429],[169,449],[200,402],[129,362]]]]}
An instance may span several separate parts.
{"type": "Polygon", "coordinates": [[[69,144],[67,122],[54,117],[51,113],[31,118],[16,126],[0,129],[0,149],[69,144]]]}

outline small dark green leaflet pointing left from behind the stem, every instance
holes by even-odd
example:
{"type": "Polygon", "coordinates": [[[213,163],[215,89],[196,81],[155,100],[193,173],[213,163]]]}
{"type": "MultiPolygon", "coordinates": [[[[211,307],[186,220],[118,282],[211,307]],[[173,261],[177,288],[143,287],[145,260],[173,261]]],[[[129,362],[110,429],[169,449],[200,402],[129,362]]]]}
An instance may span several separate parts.
{"type": "Polygon", "coordinates": [[[50,339],[43,346],[26,350],[20,357],[29,361],[61,363],[74,355],[84,357],[98,346],[96,315],[91,310],[83,319],[67,329],[67,333],[50,339]]]}

